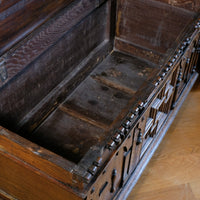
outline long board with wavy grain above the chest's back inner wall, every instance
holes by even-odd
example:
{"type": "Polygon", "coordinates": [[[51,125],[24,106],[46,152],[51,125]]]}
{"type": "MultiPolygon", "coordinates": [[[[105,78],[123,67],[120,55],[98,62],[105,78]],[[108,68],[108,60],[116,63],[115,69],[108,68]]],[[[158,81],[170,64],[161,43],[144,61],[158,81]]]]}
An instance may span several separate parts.
{"type": "MultiPolygon", "coordinates": [[[[33,62],[48,48],[53,44],[55,45],[60,38],[81,21],[82,18],[86,17],[86,15],[88,15],[94,8],[94,3],[85,0],[74,4],[70,8],[66,8],[58,16],[55,16],[44,26],[33,32],[29,36],[28,40],[25,39],[22,44],[8,52],[6,55],[8,78],[4,83],[0,83],[0,86],[5,85],[5,83],[33,62]]],[[[103,21],[103,19],[101,20],[103,21]]],[[[72,40],[73,39],[71,38],[71,41],[72,40]]],[[[69,44],[65,46],[69,46],[69,44]]],[[[59,46],[59,48],[62,47],[59,46]]]]}

